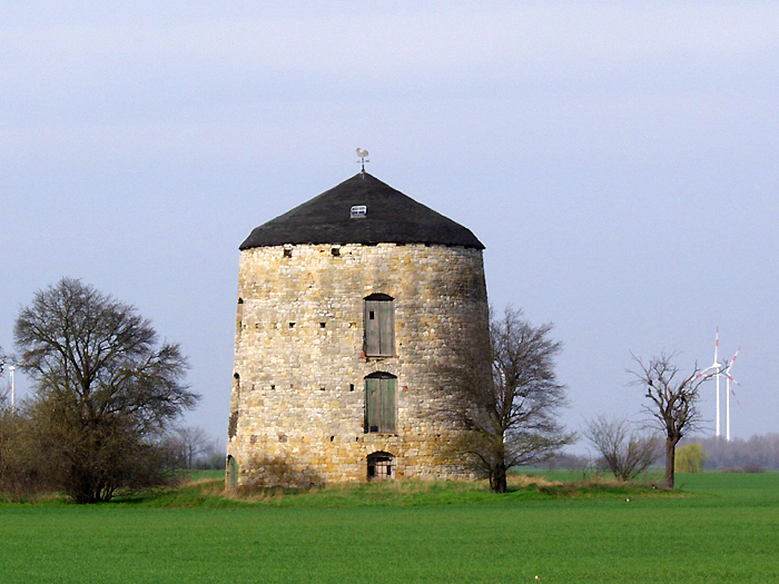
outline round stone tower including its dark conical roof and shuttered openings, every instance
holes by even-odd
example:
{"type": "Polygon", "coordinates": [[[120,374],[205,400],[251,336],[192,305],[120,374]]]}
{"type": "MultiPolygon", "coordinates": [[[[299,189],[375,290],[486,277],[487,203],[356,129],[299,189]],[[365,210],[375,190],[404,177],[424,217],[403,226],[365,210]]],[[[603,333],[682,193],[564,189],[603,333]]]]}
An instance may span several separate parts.
{"type": "Polygon", "coordinates": [[[366,172],[240,246],[228,486],[463,476],[441,368],[486,334],[484,246],[366,172]]]}

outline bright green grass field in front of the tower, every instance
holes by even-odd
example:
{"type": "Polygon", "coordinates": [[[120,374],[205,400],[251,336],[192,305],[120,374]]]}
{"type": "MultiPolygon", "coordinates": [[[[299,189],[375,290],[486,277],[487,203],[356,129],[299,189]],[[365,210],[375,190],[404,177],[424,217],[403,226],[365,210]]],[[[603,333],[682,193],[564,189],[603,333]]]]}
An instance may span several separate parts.
{"type": "Polygon", "coordinates": [[[779,582],[779,474],[678,484],[686,496],[647,489],[630,502],[618,489],[369,485],[221,507],[186,489],[178,499],[7,504],[0,582],[779,582]],[[154,506],[165,504],[184,506],[154,506]]]}

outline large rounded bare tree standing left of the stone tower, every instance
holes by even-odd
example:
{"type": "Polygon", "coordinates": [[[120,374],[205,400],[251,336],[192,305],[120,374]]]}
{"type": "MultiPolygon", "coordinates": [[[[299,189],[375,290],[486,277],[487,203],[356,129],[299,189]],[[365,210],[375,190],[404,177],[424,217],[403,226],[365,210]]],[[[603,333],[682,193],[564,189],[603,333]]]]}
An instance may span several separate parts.
{"type": "Polygon", "coordinates": [[[36,293],[14,336],[52,483],[92,503],[159,481],[157,438],[198,398],[181,384],[178,345],[158,345],[132,306],[70,278],[36,293]]]}

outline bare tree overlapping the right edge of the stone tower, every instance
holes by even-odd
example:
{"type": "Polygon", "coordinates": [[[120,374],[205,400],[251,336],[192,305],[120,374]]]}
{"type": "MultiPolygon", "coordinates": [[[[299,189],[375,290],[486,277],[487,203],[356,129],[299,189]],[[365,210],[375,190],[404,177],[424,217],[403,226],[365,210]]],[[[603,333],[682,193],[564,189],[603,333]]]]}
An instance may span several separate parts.
{"type": "Polygon", "coordinates": [[[560,424],[565,388],[556,382],[554,357],[562,344],[551,324],[533,326],[507,307],[490,316],[489,338],[467,335],[447,368],[453,396],[447,415],[466,432],[454,448],[505,493],[506,473],[544,461],[573,441],[560,424]]]}

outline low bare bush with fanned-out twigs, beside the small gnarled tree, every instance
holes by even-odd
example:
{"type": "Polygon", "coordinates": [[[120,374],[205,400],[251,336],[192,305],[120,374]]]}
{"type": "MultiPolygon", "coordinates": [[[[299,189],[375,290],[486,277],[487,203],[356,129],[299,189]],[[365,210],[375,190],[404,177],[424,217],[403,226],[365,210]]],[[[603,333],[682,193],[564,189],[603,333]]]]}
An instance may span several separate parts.
{"type": "Polygon", "coordinates": [[[605,414],[586,422],[584,437],[619,481],[631,481],[662,455],[657,433],[637,430],[627,419],[605,414]]]}

